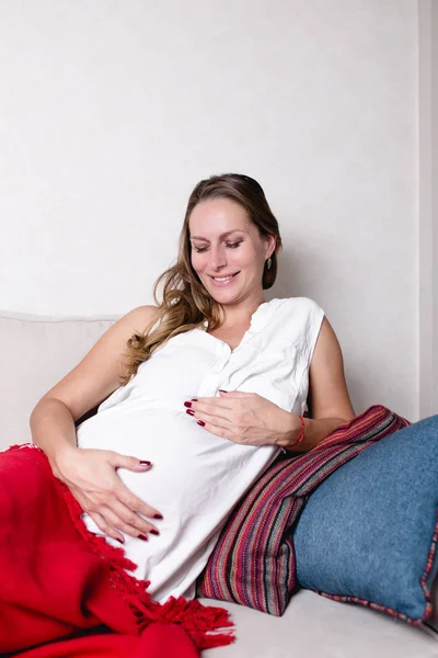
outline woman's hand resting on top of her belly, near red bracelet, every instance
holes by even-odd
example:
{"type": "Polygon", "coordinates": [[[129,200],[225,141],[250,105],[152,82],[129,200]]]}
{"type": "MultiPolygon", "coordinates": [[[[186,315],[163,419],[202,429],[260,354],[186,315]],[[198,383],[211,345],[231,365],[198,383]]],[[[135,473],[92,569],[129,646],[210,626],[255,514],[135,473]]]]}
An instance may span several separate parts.
{"type": "Polygon", "coordinates": [[[187,413],[206,430],[245,445],[288,445],[301,421],[255,393],[219,392],[220,397],[187,400],[187,413]]]}

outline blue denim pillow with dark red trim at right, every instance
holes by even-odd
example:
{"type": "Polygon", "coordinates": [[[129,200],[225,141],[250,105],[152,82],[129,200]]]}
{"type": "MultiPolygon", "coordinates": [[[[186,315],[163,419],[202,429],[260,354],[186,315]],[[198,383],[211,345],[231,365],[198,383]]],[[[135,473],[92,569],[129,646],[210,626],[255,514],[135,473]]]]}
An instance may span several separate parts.
{"type": "Polygon", "coordinates": [[[438,570],[438,416],[387,436],[310,496],[295,530],[299,583],[413,624],[438,570]]]}

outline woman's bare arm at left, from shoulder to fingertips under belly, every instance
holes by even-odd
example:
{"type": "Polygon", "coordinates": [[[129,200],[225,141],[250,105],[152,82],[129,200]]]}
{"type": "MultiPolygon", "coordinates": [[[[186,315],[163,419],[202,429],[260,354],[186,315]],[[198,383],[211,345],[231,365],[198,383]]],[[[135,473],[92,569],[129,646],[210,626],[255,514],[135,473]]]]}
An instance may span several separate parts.
{"type": "Polygon", "coordinates": [[[123,485],[116,468],[146,470],[136,457],[77,447],[74,422],[106,399],[120,383],[127,340],[151,321],[155,308],[135,308],[115,322],[85,358],[38,401],[31,416],[32,438],[47,455],[56,477],[110,536],[138,536],[154,529],[145,517],[159,514],[123,485]]]}

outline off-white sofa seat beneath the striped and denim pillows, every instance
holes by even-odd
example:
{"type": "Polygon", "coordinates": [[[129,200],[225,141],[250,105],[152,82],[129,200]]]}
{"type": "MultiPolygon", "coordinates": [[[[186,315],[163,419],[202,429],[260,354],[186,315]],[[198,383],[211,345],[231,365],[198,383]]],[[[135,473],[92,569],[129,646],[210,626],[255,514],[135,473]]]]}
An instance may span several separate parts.
{"type": "MultiPolygon", "coordinates": [[[[210,599],[199,599],[211,604],[210,599]]],[[[237,623],[237,642],[203,658],[437,658],[438,644],[420,628],[361,605],[299,590],[284,616],[217,602],[237,623]]]]}

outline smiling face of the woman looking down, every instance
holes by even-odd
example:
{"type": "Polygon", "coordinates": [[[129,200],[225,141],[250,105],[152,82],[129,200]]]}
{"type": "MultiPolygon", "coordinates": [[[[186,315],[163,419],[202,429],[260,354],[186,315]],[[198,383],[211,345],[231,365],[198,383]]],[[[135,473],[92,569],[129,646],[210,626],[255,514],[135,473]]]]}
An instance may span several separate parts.
{"type": "Polygon", "coordinates": [[[188,220],[192,264],[219,304],[263,300],[263,270],[275,237],[262,237],[245,208],[229,198],[198,203],[188,220]]]}

